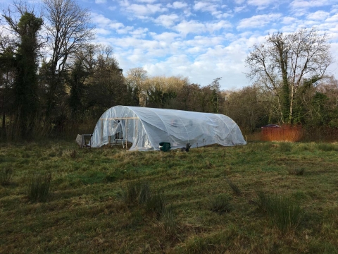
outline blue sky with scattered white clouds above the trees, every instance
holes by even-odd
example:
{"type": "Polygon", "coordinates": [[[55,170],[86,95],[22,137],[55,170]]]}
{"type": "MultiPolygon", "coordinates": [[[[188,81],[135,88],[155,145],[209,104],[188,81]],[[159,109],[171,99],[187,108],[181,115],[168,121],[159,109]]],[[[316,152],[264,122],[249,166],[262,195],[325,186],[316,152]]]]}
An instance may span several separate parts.
{"type": "MultiPolygon", "coordinates": [[[[268,33],[315,26],[331,37],[337,61],[338,0],[79,0],[96,26],[96,42],[109,44],[120,68],[149,75],[182,75],[223,89],[251,84],[244,60],[268,33]]],[[[337,73],[334,63],[329,72],[337,73]]],[[[337,77],[337,75],[336,75],[337,77]]]]}

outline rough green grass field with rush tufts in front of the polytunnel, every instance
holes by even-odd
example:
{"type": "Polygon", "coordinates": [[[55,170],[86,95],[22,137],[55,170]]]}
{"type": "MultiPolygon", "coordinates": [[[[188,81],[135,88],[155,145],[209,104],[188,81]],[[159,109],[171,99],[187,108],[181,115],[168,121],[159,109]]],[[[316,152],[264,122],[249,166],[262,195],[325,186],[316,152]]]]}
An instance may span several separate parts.
{"type": "Polygon", "coordinates": [[[0,253],[338,253],[338,144],[2,144],[0,253]]]}

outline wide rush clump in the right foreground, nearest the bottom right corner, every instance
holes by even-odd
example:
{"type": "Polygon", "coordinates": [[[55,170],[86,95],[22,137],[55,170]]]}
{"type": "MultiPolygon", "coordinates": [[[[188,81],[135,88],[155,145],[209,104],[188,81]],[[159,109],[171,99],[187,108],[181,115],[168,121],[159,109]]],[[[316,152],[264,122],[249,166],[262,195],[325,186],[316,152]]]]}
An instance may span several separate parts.
{"type": "Polygon", "coordinates": [[[266,212],[282,232],[294,230],[299,226],[303,217],[303,210],[299,205],[294,205],[289,198],[266,195],[263,191],[259,191],[257,195],[258,208],[266,212]]]}

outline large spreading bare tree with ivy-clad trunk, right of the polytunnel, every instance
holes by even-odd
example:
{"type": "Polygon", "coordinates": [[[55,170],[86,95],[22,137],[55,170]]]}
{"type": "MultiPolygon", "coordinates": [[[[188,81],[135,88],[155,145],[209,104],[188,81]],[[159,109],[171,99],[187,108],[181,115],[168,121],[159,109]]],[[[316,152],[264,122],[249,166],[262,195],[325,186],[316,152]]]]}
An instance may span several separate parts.
{"type": "Polygon", "coordinates": [[[246,58],[251,68],[248,78],[257,78],[277,96],[281,121],[292,123],[294,99],[325,75],[332,63],[329,37],[312,29],[288,35],[269,35],[266,42],[255,44],[246,58]],[[304,89],[300,89],[303,87],[304,89]]]}

